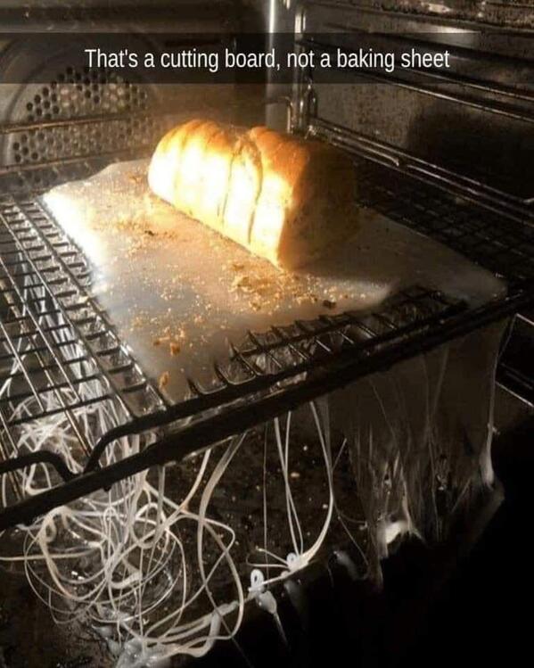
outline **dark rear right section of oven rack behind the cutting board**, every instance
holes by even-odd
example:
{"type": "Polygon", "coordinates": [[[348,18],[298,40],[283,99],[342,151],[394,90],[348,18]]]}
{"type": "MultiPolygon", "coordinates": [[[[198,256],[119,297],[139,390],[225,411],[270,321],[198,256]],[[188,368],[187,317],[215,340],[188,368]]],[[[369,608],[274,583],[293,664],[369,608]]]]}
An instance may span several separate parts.
{"type": "Polygon", "coordinates": [[[361,204],[454,248],[512,290],[532,284],[530,202],[325,121],[317,120],[310,133],[354,154],[361,204]]]}

